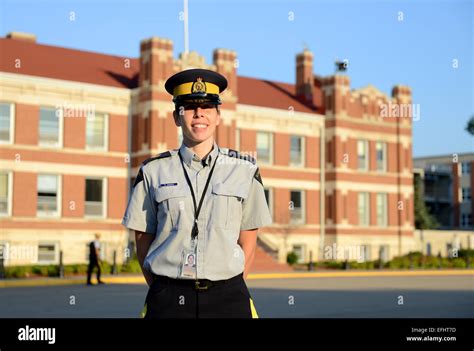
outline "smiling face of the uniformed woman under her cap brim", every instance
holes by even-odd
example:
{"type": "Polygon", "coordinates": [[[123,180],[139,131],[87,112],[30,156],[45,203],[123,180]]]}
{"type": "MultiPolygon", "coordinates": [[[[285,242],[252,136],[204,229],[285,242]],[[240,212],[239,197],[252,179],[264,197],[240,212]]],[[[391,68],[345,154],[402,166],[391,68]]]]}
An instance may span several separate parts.
{"type": "Polygon", "coordinates": [[[184,104],[173,115],[175,124],[183,130],[183,138],[194,144],[213,137],[220,123],[220,114],[213,104],[184,104]]]}

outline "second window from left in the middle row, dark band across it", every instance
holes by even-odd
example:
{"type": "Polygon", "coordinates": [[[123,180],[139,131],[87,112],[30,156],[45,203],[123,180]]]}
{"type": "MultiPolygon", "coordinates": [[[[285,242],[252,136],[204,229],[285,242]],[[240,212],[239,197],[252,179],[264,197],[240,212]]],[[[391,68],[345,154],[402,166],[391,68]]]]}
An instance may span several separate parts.
{"type": "Polygon", "coordinates": [[[38,216],[58,216],[58,176],[38,175],[38,216]]]}

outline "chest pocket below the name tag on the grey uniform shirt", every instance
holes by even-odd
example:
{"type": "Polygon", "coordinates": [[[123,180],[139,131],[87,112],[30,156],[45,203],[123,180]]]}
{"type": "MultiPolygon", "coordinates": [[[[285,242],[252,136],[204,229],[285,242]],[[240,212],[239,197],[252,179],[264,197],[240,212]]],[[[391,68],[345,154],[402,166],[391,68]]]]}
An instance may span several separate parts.
{"type": "Polygon", "coordinates": [[[182,226],[186,211],[186,189],[180,186],[159,188],[155,199],[158,203],[158,221],[170,222],[171,230],[177,230],[182,226]]]}

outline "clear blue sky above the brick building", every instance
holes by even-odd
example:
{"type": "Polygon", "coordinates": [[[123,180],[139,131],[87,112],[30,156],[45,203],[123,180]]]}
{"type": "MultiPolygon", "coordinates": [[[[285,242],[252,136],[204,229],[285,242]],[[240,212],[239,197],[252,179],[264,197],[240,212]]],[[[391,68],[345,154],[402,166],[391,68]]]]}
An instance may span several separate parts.
{"type": "MultiPolygon", "coordinates": [[[[189,47],[207,63],[215,48],[234,50],[239,75],[288,83],[305,47],[318,75],[347,59],[351,89],[371,84],[390,96],[396,84],[411,87],[415,157],[474,152],[465,131],[474,115],[473,9],[471,0],[189,0],[189,47]]],[[[0,0],[0,35],[127,57],[158,36],[173,41],[177,58],[181,11],[182,0],[0,0]]]]}

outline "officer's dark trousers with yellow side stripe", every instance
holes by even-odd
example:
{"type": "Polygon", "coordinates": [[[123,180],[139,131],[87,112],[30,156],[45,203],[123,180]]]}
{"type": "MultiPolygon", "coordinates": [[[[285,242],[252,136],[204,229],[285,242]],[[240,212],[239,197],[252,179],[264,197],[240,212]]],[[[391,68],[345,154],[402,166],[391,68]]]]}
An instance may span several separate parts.
{"type": "Polygon", "coordinates": [[[258,318],[242,274],[224,284],[198,290],[194,280],[158,276],[148,290],[145,319],[258,318]]]}

